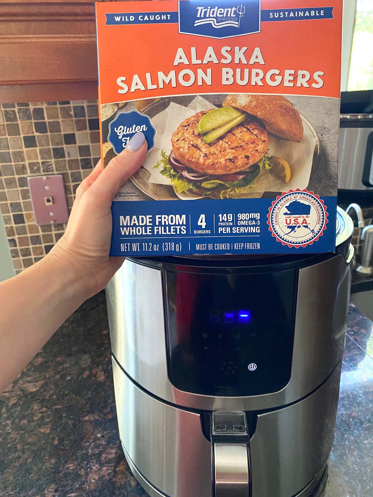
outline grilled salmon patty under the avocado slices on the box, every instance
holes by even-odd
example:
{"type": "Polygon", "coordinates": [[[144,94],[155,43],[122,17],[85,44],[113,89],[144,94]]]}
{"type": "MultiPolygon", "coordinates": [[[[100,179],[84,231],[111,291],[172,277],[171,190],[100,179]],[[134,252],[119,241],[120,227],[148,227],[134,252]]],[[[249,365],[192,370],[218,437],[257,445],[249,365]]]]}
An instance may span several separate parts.
{"type": "Polygon", "coordinates": [[[264,156],[268,148],[267,130],[250,116],[215,142],[205,143],[196,127],[207,112],[202,110],[188,117],[172,135],[172,150],[185,166],[205,174],[229,174],[247,169],[264,156]]]}

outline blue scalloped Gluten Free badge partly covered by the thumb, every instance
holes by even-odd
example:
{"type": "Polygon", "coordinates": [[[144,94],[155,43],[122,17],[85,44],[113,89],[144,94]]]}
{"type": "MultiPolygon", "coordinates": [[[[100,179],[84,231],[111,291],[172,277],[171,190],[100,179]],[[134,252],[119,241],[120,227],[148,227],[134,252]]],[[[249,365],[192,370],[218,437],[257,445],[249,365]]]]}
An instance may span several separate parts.
{"type": "Polygon", "coordinates": [[[128,145],[130,139],[142,131],[148,143],[148,151],[154,147],[156,129],[152,125],[149,116],[141,114],[137,110],[129,112],[119,112],[114,120],[109,124],[108,141],[111,143],[114,152],[120,154],[128,145]]]}

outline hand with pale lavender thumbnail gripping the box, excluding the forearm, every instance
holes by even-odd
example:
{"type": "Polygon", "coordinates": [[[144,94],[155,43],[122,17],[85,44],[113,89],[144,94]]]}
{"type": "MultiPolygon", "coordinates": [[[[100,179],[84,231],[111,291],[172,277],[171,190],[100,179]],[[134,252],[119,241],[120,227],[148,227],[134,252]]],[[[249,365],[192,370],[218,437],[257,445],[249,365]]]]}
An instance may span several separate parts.
{"type": "Polygon", "coordinates": [[[86,298],[102,290],[124,261],[109,257],[111,201],[143,164],[146,152],[145,136],[139,132],[103,171],[98,162],[77,188],[65,234],[46,256],[81,278],[86,298]]]}

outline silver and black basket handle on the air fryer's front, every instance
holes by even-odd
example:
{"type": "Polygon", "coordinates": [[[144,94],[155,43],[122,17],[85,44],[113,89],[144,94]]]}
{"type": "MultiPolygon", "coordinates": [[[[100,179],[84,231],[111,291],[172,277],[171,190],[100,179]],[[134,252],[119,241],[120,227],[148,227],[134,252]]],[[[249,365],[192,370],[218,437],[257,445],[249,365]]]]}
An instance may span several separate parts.
{"type": "Polygon", "coordinates": [[[246,414],[212,413],[211,443],[214,497],[250,497],[246,414]]]}

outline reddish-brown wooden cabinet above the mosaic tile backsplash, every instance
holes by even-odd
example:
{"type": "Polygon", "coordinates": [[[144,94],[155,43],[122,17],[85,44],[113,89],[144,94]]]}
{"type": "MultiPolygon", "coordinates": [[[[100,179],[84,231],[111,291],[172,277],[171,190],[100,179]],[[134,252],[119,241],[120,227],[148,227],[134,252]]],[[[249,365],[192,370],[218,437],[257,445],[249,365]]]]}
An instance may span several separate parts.
{"type": "Polygon", "coordinates": [[[94,0],[0,0],[0,62],[0,102],[96,98],[94,0]]]}

